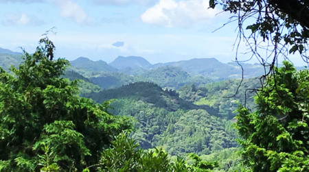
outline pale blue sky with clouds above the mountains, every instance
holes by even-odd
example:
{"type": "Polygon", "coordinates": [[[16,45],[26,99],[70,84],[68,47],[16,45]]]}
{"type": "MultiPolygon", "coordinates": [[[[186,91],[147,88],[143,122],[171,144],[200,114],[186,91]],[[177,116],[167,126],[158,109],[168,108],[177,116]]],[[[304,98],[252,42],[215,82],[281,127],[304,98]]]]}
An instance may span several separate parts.
{"type": "MultiPolygon", "coordinates": [[[[56,27],[56,35],[49,38],[56,56],[68,60],[83,56],[112,62],[117,56],[141,56],[152,64],[192,58],[231,62],[237,23],[213,32],[229,14],[209,9],[208,4],[209,0],[0,0],[0,47],[23,47],[31,53],[41,34],[56,27]]],[[[247,51],[244,45],[240,49],[247,51]]]]}

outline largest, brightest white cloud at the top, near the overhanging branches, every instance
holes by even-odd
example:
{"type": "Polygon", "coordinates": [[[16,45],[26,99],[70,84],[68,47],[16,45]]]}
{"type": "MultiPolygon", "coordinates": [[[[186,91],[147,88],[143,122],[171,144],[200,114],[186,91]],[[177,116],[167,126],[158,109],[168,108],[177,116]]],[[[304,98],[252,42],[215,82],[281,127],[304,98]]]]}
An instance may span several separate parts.
{"type": "Polygon", "coordinates": [[[141,20],[163,27],[188,27],[214,18],[218,12],[209,9],[209,0],[160,0],[141,14],[141,20]]]}

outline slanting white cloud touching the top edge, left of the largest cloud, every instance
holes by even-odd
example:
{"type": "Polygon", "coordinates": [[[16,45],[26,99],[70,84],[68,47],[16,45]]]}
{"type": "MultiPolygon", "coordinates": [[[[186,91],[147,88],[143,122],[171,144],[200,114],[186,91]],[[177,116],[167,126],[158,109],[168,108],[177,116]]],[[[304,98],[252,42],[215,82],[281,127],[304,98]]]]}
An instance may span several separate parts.
{"type": "Polygon", "coordinates": [[[73,20],[80,25],[89,25],[92,23],[92,19],[78,3],[61,0],[55,0],[55,2],[61,8],[60,15],[63,18],[73,20]]]}

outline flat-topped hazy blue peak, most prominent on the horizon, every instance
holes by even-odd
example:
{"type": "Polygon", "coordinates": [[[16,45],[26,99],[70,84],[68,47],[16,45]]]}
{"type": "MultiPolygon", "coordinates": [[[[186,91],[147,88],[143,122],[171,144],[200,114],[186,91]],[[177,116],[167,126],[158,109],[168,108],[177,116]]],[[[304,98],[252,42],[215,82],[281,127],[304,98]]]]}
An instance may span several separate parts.
{"type": "Polygon", "coordinates": [[[128,57],[119,56],[109,65],[119,70],[124,70],[128,68],[150,69],[152,67],[152,64],[150,64],[150,62],[148,62],[146,59],[137,56],[128,56],[128,57]]]}

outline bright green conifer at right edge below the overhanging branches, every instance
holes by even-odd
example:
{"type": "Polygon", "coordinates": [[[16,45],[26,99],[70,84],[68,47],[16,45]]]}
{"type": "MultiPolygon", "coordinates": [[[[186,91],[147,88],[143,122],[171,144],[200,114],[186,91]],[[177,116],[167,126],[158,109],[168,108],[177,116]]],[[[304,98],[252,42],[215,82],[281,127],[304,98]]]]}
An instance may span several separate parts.
{"type": "Polygon", "coordinates": [[[309,71],[275,68],[251,113],[240,106],[236,128],[244,164],[252,171],[309,171],[309,71]]]}

